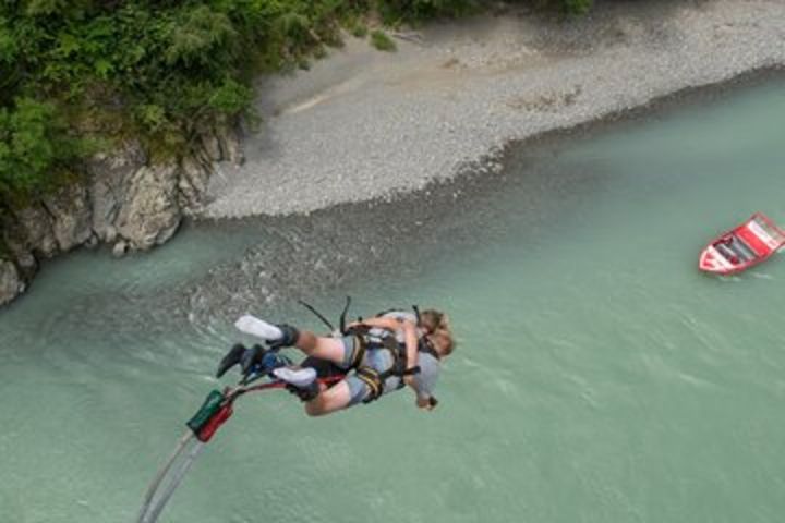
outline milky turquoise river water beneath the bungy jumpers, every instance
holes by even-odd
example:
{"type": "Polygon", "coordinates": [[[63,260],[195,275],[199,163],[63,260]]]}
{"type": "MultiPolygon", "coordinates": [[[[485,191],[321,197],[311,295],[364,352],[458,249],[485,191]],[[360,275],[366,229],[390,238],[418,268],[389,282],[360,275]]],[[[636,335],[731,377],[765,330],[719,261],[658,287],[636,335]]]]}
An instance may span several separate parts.
{"type": "MultiPolygon", "coordinates": [[[[47,264],[0,313],[0,522],[131,522],[250,311],[321,328],[420,303],[459,338],[408,391],[321,419],[242,398],[161,522],[775,522],[785,259],[698,272],[785,223],[785,84],[522,146],[430,197],[200,224],[147,255],[47,264]]],[[[227,381],[228,382],[228,381],[227,381]]]]}

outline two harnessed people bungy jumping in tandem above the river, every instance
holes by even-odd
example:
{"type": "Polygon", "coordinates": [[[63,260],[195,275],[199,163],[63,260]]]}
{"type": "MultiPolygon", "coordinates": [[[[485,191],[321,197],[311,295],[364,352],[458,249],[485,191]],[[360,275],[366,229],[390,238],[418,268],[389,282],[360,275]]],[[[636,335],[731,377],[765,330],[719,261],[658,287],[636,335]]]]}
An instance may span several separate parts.
{"type": "MultiPolygon", "coordinates": [[[[273,375],[305,404],[311,416],[329,414],[359,403],[372,402],[388,392],[410,387],[419,408],[432,410],[440,362],[455,348],[447,317],[437,311],[419,316],[391,311],[347,326],[340,338],[322,337],[290,325],[268,324],[241,317],[235,326],[267,341],[273,351],[294,346],[307,357],[299,366],[280,366],[273,375]],[[341,374],[327,387],[317,376],[341,374]]],[[[244,375],[270,355],[259,345],[234,345],[221,361],[217,375],[240,365],[244,375]]]]}

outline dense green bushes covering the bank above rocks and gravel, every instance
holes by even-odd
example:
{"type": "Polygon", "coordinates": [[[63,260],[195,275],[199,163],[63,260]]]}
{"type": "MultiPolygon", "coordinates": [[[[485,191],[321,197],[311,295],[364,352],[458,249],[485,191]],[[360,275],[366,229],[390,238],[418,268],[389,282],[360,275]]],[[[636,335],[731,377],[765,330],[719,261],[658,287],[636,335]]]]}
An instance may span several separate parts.
{"type": "MultiPolygon", "coordinates": [[[[541,0],[582,12],[591,0],[541,0]]],[[[458,16],[483,0],[9,0],[0,3],[0,208],[72,180],[112,139],[178,155],[247,115],[259,72],[306,66],[388,24],[458,16]],[[100,137],[100,142],[96,138],[100,137]]],[[[395,42],[381,31],[378,49],[395,42]]]]}

